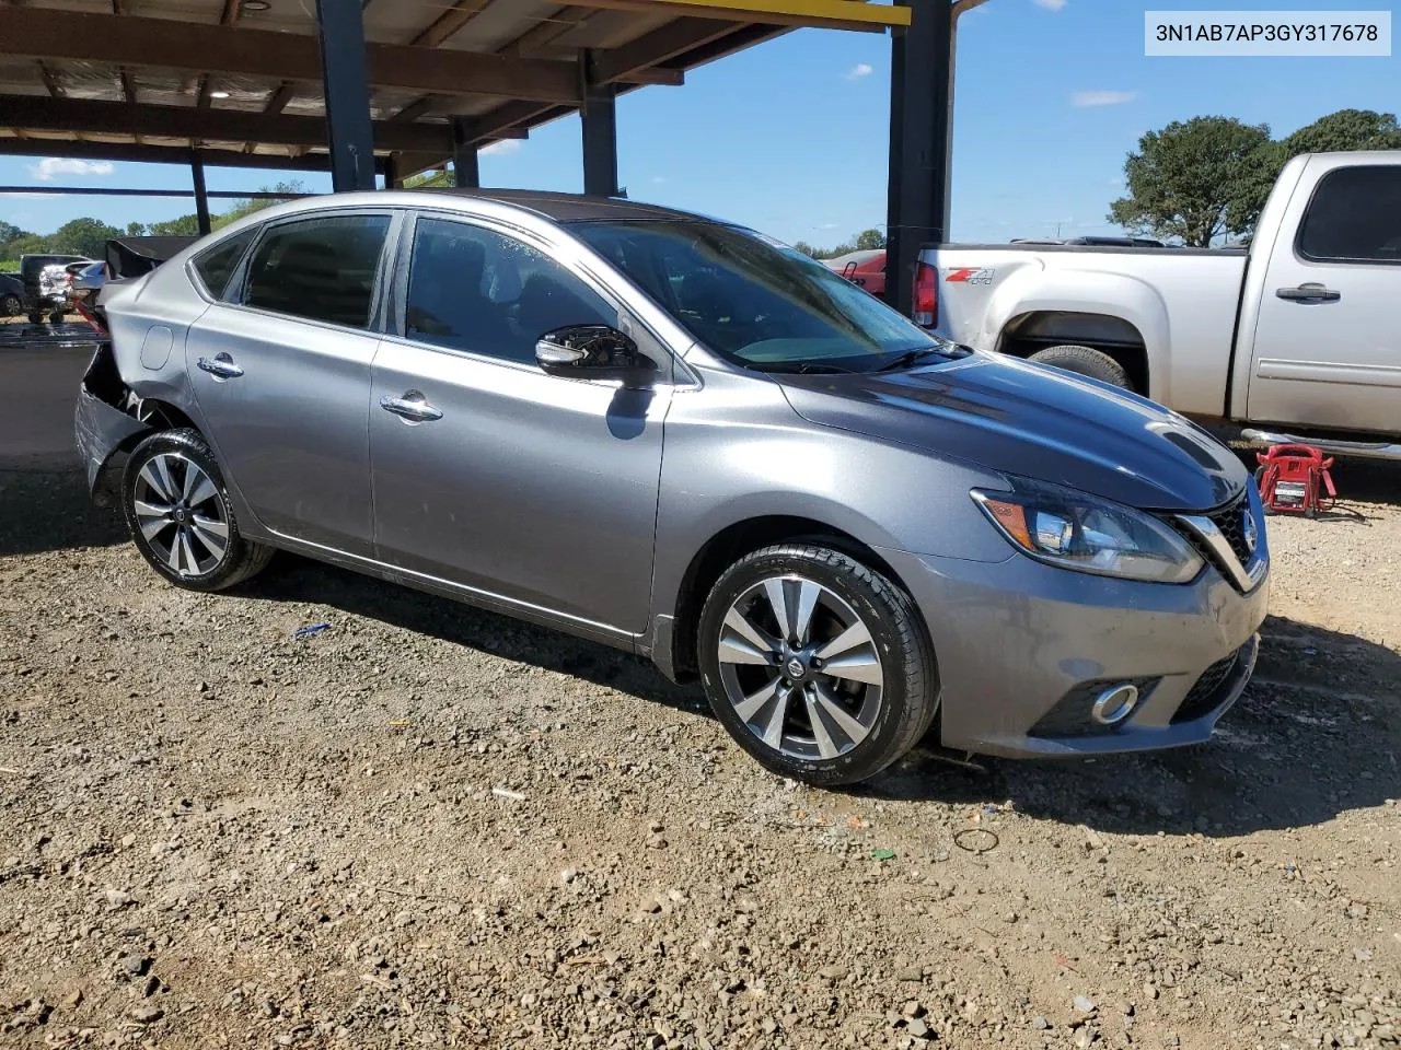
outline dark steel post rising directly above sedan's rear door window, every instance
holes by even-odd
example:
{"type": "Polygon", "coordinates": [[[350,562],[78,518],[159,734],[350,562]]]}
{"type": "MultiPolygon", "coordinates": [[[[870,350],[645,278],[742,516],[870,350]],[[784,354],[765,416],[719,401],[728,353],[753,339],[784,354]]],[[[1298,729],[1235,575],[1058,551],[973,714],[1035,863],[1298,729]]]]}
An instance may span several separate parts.
{"type": "Polygon", "coordinates": [[[331,188],[336,193],[374,189],[374,132],[370,127],[360,0],[317,0],[317,28],[321,34],[331,188]]]}

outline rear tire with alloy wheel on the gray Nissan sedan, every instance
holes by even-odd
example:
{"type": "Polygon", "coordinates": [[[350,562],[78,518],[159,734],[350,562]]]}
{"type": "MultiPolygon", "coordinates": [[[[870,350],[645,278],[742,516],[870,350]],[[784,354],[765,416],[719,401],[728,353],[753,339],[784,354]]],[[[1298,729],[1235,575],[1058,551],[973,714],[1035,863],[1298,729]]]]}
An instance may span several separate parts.
{"type": "Polygon", "coordinates": [[[163,430],[132,451],[122,512],[151,568],[189,591],[241,584],[273,554],[238,532],[219,463],[196,430],[163,430]]]}

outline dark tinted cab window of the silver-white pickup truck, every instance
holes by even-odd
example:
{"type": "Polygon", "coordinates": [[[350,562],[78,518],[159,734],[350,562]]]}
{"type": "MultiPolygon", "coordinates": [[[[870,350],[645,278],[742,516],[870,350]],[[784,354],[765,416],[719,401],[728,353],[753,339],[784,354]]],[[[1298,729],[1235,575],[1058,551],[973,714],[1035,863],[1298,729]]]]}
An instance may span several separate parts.
{"type": "Polygon", "coordinates": [[[1324,175],[1299,227],[1297,246],[1311,262],[1401,263],[1401,167],[1324,175]]]}

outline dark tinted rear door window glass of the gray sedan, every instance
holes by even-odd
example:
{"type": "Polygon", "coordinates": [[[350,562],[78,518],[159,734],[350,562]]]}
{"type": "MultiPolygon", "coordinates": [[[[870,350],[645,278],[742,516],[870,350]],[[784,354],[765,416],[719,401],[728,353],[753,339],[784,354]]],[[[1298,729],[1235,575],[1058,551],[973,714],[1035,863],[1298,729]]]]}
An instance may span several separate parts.
{"type": "Polygon", "coordinates": [[[326,216],[269,230],[248,263],[244,305],[368,328],[389,216],[326,216]]]}

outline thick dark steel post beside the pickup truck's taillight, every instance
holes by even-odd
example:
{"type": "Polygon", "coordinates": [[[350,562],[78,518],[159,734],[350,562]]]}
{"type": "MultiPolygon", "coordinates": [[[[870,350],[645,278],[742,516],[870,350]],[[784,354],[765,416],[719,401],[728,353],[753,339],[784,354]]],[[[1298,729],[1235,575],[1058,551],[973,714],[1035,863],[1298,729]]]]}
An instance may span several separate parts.
{"type": "Polygon", "coordinates": [[[948,234],[953,14],[948,0],[898,0],[909,29],[891,41],[885,300],[913,309],[915,263],[948,234]]]}

